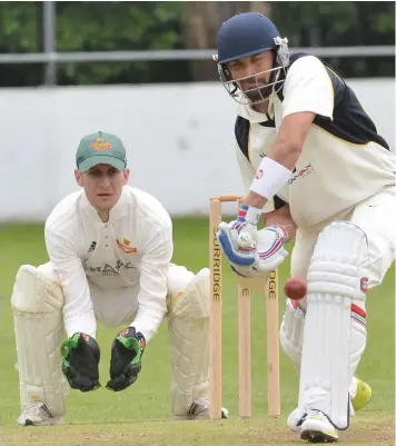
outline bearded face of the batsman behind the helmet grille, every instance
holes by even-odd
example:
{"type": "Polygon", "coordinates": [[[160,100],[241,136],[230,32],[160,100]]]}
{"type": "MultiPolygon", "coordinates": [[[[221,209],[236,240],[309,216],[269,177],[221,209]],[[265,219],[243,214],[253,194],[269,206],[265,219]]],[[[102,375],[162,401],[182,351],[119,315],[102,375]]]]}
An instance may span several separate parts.
{"type": "Polygon", "coordinates": [[[273,65],[273,51],[263,51],[258,54],[232,60],[227,63],[227,68],[246,96],[253,101],[258,101],[271,92],[271,89],[266,91],[266,86],[269,83],[273,65]]]}

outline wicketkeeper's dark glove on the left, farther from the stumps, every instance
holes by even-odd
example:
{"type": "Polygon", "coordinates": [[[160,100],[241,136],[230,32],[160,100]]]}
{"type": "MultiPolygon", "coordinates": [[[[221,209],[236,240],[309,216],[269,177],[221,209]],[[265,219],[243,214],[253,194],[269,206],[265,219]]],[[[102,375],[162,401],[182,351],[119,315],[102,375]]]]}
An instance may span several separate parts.
{"type": "Polygon", "coordinates": [[[62,371],[71,388],[89,392],[100,387],[98,343],[85,333],[76,333],[61,345],[62,371]]]}

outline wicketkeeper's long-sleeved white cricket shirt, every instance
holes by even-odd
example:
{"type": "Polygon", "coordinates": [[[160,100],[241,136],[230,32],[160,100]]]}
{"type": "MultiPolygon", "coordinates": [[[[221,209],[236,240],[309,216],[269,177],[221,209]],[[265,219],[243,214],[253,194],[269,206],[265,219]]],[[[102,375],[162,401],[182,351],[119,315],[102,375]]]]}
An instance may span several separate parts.
{"type": "MultiPolygon", "coordinates": [[[[166,314],[167,272],[172,257],[172,224],[151,195],[125,186],[108,222],[101,221],[83,191],[61,200],[46,221],[46,245],[65,295],[68,336],[96,336],[89,281],[113,291],[139,283],[138,313],[130,324],[146,340],[166,314]]],[[[132,294],[131,294],[131,298],[132,294]]]]}

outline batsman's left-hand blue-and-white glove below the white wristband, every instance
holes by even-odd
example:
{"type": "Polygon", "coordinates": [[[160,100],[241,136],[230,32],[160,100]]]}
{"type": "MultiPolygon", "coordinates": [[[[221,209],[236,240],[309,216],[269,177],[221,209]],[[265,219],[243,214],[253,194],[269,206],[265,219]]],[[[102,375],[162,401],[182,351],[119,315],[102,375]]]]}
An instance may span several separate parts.
{"type": "Polygon", "coordinates": [[[236,220],[220,222],[217,238],[231,265],[249,266],[256,261],[257,222],[260,216],[261,209],[242,205],[236,220]]]}

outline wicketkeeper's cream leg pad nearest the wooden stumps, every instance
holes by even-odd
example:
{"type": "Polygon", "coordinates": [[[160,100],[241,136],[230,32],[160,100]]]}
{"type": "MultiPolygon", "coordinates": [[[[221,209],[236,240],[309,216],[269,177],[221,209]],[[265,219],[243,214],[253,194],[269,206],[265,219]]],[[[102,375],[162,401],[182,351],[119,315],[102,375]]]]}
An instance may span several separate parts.
{"type": "Polygon", "coordinates": [[[191,404],[209,389],[209,269],[205,268],[171,294],[168,333],[171,410],[176,417],[187,416],[191,404]]]}

